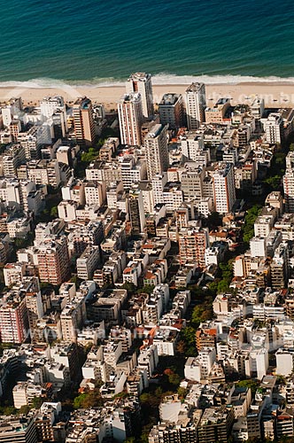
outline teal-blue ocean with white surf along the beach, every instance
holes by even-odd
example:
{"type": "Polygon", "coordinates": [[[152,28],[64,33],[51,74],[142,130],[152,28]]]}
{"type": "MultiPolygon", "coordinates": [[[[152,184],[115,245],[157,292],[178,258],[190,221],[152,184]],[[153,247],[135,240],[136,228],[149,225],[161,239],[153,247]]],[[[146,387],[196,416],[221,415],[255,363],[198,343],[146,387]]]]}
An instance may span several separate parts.
{"type": "Polygon", "coordinates": [[[0,86],[294,82],[284,0],[0,0],[0,86]]]}

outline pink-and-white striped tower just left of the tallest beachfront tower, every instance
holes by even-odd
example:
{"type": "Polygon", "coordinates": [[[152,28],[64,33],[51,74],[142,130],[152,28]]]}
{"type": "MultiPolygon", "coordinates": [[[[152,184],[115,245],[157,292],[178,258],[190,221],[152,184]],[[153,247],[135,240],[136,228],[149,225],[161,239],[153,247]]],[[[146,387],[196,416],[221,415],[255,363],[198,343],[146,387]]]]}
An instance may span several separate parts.
{"type": "Polygon", "coordinates": [[[121,144],[140,145],[143,123],[142,96],[140,93],[125,94],[118,104],[121,144]]]}

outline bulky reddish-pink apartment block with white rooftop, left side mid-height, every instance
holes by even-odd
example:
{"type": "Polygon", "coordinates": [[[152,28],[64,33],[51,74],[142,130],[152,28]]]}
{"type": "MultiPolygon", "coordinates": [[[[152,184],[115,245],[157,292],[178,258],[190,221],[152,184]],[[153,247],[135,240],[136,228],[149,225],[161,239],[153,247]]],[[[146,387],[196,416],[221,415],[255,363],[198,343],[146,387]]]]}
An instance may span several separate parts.
{"type": "Polygon", "coordinates": [[[58,285],[69,276],[69,257],[66,237],[45,239],[38,247],[39,276],[41,282],[58,285]]]}

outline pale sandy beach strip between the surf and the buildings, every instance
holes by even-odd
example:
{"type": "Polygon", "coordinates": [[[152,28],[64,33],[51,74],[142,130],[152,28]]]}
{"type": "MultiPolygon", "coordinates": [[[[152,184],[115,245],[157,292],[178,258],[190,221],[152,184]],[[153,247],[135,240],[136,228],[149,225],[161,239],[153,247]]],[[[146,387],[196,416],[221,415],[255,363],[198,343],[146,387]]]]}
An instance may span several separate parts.
{"type": "MultiPolygon", "coordinates": [[[[168,92],[184,93],[187,84],[153,85],[154,103],[159,103],[163,94],[168,92]]],[[[82,86],[62,85],[59,88],[0,88],[0,102],[11,97],[22,97],[25,104],[38,105],[47,96],[61,95],[66,102],[77,97],[87,96],[93,103],[104,104],[107,110],[116,108],[116,103],[124,94],[124,86],[82,86]]],[[[220,97],[230,97],[232,105],[249,103],[253,97],[262,97],[266,107],[294,107],[294,83],[290,82],[248,82],[237,84],[206,85],[207,105],[213,105],[220,97]]]]}

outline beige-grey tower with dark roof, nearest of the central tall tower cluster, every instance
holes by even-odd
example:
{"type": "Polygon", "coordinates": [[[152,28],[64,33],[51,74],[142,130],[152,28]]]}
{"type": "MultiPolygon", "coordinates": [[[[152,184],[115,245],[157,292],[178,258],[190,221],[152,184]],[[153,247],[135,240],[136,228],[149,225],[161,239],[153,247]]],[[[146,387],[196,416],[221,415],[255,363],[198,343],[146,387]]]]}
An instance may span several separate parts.
{"type": "Polygon", "coordinates": [[[167,128],[164,125],[152,126],[144,140],[147,175],[152,180],[154,175],[167,171],[169,166],[167,150],[167,128]]]}

